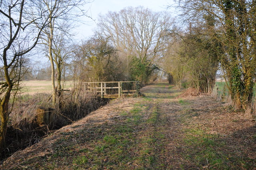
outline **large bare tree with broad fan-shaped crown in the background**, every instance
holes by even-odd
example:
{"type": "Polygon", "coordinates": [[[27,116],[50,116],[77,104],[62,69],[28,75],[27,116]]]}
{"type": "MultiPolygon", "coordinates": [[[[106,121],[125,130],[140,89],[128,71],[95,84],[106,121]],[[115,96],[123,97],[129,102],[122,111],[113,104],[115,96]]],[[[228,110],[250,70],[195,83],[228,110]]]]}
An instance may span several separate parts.
{"type": "Polygon", "coordinates": [[[100,16],[98,32],[110,37],[114,47],[126,56],[140,58],[146,72],[151,74],[150,70],[165,48],[166,34],[171,26],[172,18],[168,13],[139,6],[100,16]]]}

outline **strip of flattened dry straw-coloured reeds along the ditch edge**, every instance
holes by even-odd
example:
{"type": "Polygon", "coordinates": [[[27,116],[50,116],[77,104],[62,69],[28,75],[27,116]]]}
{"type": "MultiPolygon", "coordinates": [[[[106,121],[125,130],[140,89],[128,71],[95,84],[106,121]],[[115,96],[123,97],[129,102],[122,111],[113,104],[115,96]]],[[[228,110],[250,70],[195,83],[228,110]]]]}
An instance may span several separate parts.
{"type": "MultiPolygon", "coordinates": [[[[142,99],[138,99],[142,100],[142,99]]],[[[9,157],[2,167],[6,167],[7,169],[12,169],[16,167],[18,164],[22,164],[26,160],[36,158],[38,156],[45,156],[49,153],[54,153],[54,143],[63,137],[63,134],[68,132],[79,132],[83,129],[90,129],[94,128],[97,125],[108,123],[115,123],[112,121],[112,118],[118,116],[121,111],[128,111],[134,107],[134,100],[133,98],[118,98],[112,102],[110,102],[106,106],[102,106],[98,110],[91,112],[85,118],[74,122],[68,126],[64,126],[59,130],[56,130],[52,135],[46,136],[42,141],[37,144],[34,144],[25,150],[18,151],[14,153],[11,157],[9,157]],[[13,162],[16,162],[13,164],[13,162]]]]}

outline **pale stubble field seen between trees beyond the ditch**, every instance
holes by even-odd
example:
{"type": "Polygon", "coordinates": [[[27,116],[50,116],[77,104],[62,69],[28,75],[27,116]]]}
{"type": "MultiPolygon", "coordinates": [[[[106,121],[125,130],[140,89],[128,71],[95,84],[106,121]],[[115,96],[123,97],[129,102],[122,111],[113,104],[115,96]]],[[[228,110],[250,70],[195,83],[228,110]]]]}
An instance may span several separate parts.
{"type": "MultiPolygon", "coordinates": [[[[73,86],[72,81],[66,81],[64,84],[64,89],[72,88],[72,86],[73,86]]],[[[52,91],[52,82],[30,80],[30,81],[22,82],[21,87],[22,87],[21,92],[23,94],[50,93],[52,91]]]]}

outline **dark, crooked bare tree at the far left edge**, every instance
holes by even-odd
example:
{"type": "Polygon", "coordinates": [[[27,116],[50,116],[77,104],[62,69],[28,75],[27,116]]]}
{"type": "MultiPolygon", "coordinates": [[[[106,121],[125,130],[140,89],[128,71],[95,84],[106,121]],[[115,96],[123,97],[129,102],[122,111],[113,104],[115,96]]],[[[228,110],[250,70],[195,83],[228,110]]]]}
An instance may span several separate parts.
{"type": "MultiPolygon", "coordinates": [[[[0,1],[0,150],[5,145],[10,98],[15,99],[26,54],[38,43],[42,30],[49,23],[45,6],[40,1],[0,1]],[[37,25],[37,27],[36,27],[37,25]]],[[[12,105],[13,105],[12,102],[12,105]]]]}

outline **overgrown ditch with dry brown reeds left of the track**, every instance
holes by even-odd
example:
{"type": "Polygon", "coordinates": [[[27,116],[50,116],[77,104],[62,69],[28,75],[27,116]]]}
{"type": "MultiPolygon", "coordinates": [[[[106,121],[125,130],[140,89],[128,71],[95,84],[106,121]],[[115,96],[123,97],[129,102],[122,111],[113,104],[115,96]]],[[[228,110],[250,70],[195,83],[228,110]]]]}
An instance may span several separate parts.
{"type": "Polygon", "coordinates": [[[6,148],[0,159],[39,142],[46,134],[83,118],[107,102],[90,92],[82,91],[77,97],[71,90],[62,92],[58,97],[58,106],[52,108],[49,94],[18,96],[10,114],[6,148]],[[48,111],[52,116],[47,115],[46,118],[48,111]]]}

